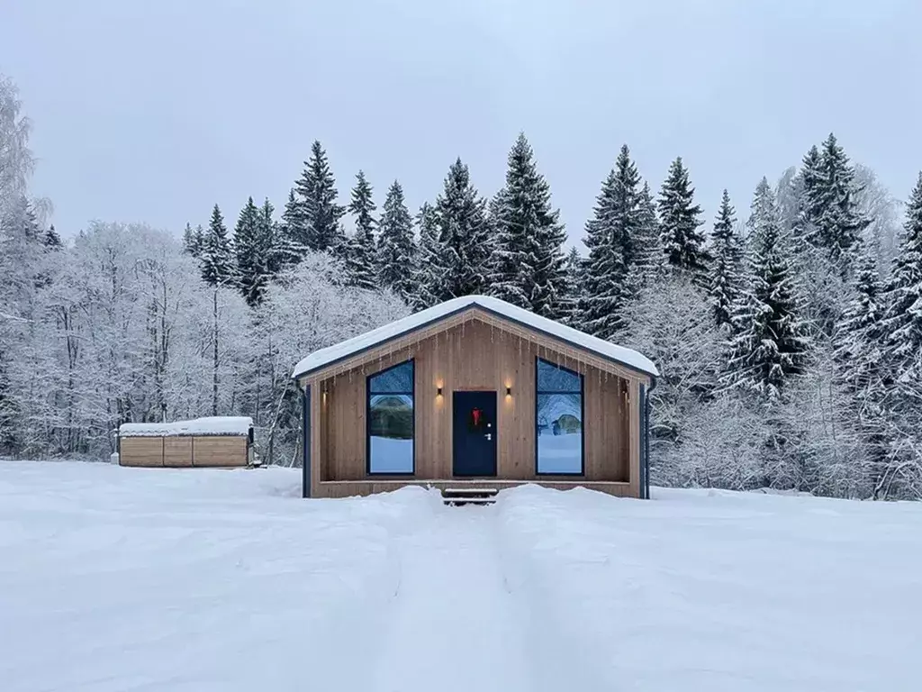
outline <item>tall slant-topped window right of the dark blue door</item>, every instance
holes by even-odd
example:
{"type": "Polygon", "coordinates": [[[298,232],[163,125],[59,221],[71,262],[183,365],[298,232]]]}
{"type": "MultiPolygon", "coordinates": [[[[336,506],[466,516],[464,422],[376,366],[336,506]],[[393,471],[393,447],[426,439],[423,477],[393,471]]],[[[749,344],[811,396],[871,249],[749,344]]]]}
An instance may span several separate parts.
{"type": "Polygon", "coordinates": [[[538,358],[538,473],[583,473],[583,376],[538,358]]]}

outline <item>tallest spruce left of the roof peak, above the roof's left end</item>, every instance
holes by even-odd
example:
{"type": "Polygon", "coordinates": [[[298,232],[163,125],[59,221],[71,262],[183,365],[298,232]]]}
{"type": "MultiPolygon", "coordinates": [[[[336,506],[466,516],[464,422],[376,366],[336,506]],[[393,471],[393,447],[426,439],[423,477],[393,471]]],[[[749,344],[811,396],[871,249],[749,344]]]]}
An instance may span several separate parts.
{"type": "Polygon", "coordinates": [[[295,183],[300,211],[290,218],[291,236],[301,248],[326,251],[337,245],[339,220],[345,209],[337,204],[336,179],[326,161],[319,141],[311,146],[311,158],[304,162],[304,172],[295,183]]]}

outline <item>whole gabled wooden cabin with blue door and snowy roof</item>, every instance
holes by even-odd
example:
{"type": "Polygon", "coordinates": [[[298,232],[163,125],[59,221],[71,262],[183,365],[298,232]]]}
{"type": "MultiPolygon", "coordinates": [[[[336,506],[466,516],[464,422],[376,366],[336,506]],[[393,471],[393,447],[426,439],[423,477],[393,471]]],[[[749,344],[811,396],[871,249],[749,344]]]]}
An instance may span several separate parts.
{"type": "Polygon", "coordinates": [[[539,483],[647,497],[656,375],[501,300],[447,301],[297,365],[303,496],[539,483]]]}

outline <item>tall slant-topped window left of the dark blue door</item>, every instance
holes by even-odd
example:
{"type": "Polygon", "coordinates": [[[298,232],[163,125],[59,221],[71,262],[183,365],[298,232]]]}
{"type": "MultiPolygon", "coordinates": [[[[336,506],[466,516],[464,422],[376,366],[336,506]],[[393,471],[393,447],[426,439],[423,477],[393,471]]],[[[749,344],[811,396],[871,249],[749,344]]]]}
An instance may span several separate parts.
{"type": "Polygon", "coordinates": [[[413,361],[368,378],[368,472],[413,473],[413,361]]]}

